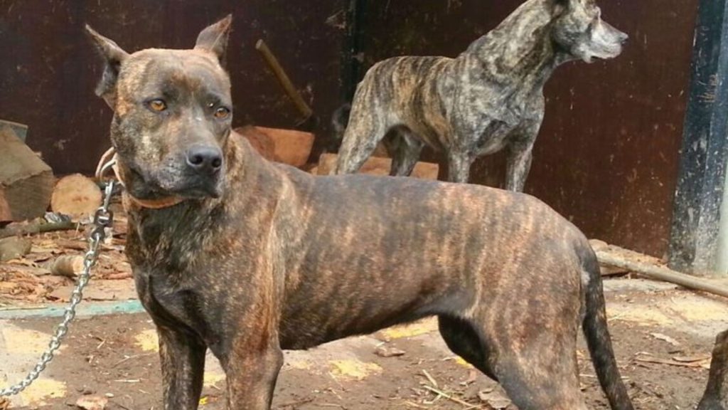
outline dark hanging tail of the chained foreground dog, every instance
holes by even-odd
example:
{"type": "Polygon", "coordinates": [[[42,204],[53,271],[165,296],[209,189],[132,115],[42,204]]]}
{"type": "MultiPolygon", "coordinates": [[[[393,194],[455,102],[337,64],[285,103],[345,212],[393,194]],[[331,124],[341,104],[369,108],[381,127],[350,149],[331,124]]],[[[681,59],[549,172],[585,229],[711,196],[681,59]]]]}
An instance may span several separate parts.
{"type": "Polygon", "coordinates": [[[622,382],[620,370],[617,368],[612,339],[606,325],[604,287],[599,263],[588,244],[582,246],[579,253],[586,275],[584,278],[586,312],[582,326],[599,383],[612,410],[633,410],[627,387],[622,382]]]}

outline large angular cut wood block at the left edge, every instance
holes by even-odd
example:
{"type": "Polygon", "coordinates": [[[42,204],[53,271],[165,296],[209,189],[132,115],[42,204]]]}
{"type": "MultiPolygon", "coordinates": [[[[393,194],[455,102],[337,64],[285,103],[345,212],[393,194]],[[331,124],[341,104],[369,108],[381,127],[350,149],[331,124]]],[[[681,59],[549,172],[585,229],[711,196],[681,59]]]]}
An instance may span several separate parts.
{"type": "Polygon", "coordinates": [[[53,191],[53,171],[10,128],[0,128],[0,222],[42,216],[53,191]]]}

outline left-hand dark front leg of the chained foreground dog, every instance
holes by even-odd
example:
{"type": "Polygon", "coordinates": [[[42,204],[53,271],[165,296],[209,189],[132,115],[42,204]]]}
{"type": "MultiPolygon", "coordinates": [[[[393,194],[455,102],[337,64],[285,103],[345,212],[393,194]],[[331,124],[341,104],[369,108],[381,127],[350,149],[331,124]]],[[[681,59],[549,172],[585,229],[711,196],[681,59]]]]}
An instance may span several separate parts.
{"type": "Polygon", "coordinates": [[[157,326],[165,410],[196,410],[207,347],[197,336],[157,326]]]}

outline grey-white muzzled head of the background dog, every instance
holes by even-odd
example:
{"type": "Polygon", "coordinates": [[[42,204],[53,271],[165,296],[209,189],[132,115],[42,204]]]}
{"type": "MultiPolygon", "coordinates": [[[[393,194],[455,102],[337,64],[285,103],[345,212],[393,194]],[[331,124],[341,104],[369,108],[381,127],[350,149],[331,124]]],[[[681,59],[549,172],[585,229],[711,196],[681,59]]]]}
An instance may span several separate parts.
{"type": "Polygon", "coordinates": [[[559,16],[553,27],[553,39],[569,55],[583,60],[614,58],[622,53],[628,35],[601,20],[595,0],[553,0],[559,16]]]}

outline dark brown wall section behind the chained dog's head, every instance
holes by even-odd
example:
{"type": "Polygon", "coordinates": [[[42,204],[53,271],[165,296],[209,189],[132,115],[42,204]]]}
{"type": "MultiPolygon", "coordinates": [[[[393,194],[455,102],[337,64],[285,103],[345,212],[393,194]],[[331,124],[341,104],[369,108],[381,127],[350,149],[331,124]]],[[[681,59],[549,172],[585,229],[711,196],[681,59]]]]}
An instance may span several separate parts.
{"type": "Polygon", "coordinates": [[[0,0],[0,118],[30,125],[28,144],[57,174],[91,172],[108,147],[111,112],[93,90],[100,59],[90,23],[127,51],[187,48],[233,14],[228,66],[236,125],[292,128],[298,115],[253,47],[263,38],[316,112],[340,102],[344,31],[325,23],[346,0],[0,0]]]}

